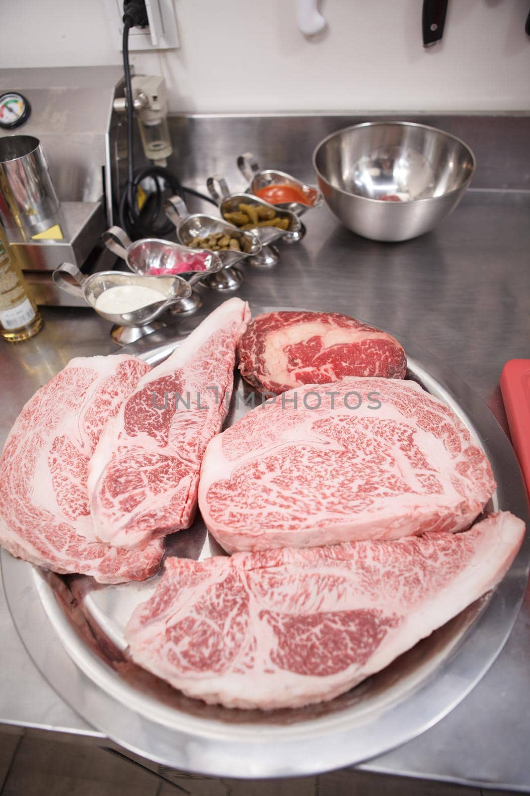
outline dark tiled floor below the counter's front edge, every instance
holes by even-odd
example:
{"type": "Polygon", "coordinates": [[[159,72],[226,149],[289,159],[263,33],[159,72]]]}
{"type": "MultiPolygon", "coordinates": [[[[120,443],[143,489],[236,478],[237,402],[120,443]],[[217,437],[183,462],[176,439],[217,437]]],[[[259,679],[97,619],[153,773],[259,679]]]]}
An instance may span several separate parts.
{"type": "Polygon", "coordinates": [[[0,729],[0,796],[501,796],[415,779],[333,771],[319,777],[242,781],[154,771],[86,739],[0,729]]]}

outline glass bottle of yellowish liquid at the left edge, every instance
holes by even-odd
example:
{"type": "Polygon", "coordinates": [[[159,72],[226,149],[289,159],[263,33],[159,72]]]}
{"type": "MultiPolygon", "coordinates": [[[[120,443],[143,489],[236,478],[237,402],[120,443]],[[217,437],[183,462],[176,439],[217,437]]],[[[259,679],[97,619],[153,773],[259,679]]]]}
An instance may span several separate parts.
{"type": "Polygon", "coordinates": [[[41,328],[37,304],[29,295],[21,267],[0,227],[0,336],[19,342],[33,338],[41,328]]]}

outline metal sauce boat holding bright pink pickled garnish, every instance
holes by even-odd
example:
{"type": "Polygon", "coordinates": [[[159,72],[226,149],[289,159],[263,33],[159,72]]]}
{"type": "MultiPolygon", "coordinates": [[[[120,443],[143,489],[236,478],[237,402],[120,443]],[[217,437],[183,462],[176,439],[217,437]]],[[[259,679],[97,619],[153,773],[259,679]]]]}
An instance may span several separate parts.
{"type": "MultiPolygon", "coordinates": [[[[103,232],[102,240],[110,252],[125,260],[131,271],[145,276],[162,276],[163,274],[153,274],[153,269],[170,271],[181,263],[192,263],[196,255],[204,255],[206,271],[197,271],[191,267],[189,271],[181,271],[178,274],[191,287],[204,279],[207,274],[215,274],[223,267],[222,260],[215,252],[208,252],[206,249],[190,249],[173,243],[172,240],[162,240],[161,238],[142,238],[132,241],[125,230],[117,226],[110,227],[103,232]]],[[[202,305],[203,299],[199,293],[191,291],[189,298],[183,298],[180,302],[173,304],[171,311],[179,314],[191,314],[202,305]]]]}

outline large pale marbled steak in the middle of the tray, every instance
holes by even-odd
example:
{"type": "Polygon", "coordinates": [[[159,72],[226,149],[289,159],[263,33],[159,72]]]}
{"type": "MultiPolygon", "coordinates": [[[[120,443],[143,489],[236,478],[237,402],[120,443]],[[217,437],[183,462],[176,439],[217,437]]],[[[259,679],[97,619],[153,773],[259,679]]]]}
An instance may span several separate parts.
{"type": "Polygon", "coordinates": [[[285,392],[212,439],[199,508],[228,552],[312,547],[466,529],[494,489],[447,404],[411,380],[349,377],[285,392]]]}

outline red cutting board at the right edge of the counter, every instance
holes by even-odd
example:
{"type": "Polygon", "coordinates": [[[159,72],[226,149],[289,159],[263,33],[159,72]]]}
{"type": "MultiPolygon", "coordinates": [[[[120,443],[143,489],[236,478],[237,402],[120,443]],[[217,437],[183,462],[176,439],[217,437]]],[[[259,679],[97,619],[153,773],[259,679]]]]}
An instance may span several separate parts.
{"type": "Polygon", "coordinates": [[[499,384],[513,447],[530,496],[530,359],[506,362],[499,384]]]}

